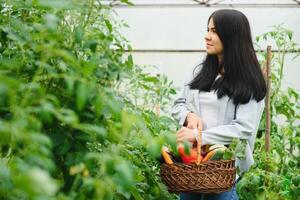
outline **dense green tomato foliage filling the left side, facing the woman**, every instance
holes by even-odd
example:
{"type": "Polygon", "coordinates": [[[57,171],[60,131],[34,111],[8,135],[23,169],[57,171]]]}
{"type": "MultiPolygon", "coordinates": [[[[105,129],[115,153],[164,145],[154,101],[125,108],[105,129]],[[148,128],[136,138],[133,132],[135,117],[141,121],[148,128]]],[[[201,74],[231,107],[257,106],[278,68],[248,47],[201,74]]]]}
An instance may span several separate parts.
{"type": "MultiPolygon", "coordinates": [[[[174,197],[156,156],[175,123],[122,95],[138,66],[111,7],[5,0],[0,10],[0,198],[174,197]]],[[[165,85],[149,89],[165,102],[174,90],[139,76],[128,91],[165,85]]]]}

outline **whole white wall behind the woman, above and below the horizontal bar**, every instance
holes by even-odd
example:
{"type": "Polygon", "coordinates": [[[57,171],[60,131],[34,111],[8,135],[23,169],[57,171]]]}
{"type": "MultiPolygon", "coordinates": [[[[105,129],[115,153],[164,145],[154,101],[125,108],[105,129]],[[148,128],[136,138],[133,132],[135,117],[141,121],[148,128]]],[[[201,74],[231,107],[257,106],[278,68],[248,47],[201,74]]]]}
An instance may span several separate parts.
{"type": "MultiPolygon", "coordinates": [[[[229,8],[229,6],[228,6],[229,8]]],[[[201,60],[205,51],[204,34],[209,15],[214,7],[116,7],[119,18],[127,22],[130,28],[121,33],[131,42],[138,64],[156,65],[160,73],[172,79],[176,87],[182,85],[183,74],[197,60],[201,60]],[[162,51],[160,51],[162,50],[162,51]],[[168,52],[168,51],[173,52],[168,52]],[[180,52],[180,51],[186,52],[180,52]],[[153,52],[154,51],[154,52],[153,52]],[[157,52],[156,52],[157,51],[157,52]],[[188,52],[196,51],[196,52],[188,52]]],[[[270,26],[284,23],[294,32],[294,40],[300,44],[300,8],[294,7],[239,7],[249,19],[253,39],[256,35],[270,31],[270,26]]],[[[270,43],[275,47],[274,44],[270,43]]],[[[294,55],[294,54],[293,54],[294,55]]],[[[300,91],[300,57],[291,61],[289,54],[285,61],[283,88],[292,86],[300,91]]]]}

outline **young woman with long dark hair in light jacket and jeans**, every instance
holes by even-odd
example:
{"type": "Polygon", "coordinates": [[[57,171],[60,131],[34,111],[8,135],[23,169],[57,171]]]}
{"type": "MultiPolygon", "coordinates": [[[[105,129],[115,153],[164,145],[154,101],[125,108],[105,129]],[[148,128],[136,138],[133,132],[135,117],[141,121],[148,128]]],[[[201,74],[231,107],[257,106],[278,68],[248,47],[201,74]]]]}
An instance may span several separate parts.
{"type": "MultiPolygon", "coordinates": [[[[253,147],[264,110],[266,85],[252,44],[250,25],[237,10],[217,10],[208,19],[207,55],[197,65],[175,100],[172,116],[182,128],[177,141],[194,143],[201,128],[202,145],[247,141],[241,171],[253,164],[253,147]]],[[[180,199],[238,199],[235,187],[220,194],[182,193],[180,199]]]]}

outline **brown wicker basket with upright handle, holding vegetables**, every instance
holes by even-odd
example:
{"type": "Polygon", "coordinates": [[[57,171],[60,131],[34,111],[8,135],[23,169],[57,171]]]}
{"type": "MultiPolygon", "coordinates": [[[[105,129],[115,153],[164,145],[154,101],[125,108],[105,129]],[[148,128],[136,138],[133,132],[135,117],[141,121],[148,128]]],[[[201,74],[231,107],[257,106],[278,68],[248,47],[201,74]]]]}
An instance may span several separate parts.
{"type": "Polygon", "coordinates": [[[235,161],[210,160],[201,163],[201,139],[202,131],[199,130],[196,163],[161,165],[160,175],[169,192],[220,193],[233,187],[236,175],[235,161]]]}

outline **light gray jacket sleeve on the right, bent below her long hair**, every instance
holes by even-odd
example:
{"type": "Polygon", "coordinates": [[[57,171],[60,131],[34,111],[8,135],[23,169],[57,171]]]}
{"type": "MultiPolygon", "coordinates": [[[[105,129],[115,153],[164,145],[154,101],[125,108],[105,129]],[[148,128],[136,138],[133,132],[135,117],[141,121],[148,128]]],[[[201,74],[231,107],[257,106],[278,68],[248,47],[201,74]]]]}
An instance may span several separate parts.
{"type": "Polygon", "coordinates": [[[236,119],[230,124],[202,131],[202,144],[230,144],[233,138],[248,140],[257,132],[264,107],[265,99],[259,102],[251,99],[247,104],[238,105],[236,119]]]}

